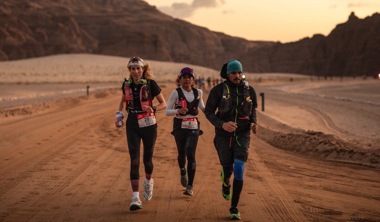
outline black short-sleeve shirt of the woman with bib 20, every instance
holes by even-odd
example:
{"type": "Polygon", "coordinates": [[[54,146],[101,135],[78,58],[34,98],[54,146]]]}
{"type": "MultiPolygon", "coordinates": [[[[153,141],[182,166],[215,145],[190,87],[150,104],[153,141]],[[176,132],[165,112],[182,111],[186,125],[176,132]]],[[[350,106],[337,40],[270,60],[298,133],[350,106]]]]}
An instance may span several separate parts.
{"type": "MultiPolygon", "coordinates": [[[[122,85],[123,94],[125,94],[124,84],[125,84],[125,81],[123,82],[123,85],[122,85]]],[[[138,84],[138,85],[131,84],[132,92],[133,93],[136,92],[140,94],[141,86],[143,86],[143,84],[138,84]]],[[[152,96],[152,100],[154,100],[154,97],[156,97],[160,93],[161,93],[161,88],[157,85],[156,81],[150,80],[150,95],[152,96]]],[[[140,98],[134,96],[133,104],[135,104],[135,106],[138,106],[137,104],[140,104],[140,98]]],[[[139,123],[137,121],[137,114],[135,112],[128,112],[128,117],[127,117],[127,121],[125,125],[127,128],[135,128],[135,129],[157,128],[157,124],[140,128],[139,123]]]]}

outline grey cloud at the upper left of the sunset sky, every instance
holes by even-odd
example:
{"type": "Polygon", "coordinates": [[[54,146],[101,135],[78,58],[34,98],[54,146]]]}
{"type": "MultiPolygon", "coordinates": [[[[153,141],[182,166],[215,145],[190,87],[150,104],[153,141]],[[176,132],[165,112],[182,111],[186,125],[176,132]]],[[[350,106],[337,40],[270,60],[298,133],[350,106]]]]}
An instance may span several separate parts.
{"type": "Polygon", "coordinates": [[[171,6],[162,6],[158,7],[158,9],[174,18],[188,18],[192,16],[198,8],[217,8],[224,3],[224,0],[193,0],[190,4],[174,2],[171,6]]]}

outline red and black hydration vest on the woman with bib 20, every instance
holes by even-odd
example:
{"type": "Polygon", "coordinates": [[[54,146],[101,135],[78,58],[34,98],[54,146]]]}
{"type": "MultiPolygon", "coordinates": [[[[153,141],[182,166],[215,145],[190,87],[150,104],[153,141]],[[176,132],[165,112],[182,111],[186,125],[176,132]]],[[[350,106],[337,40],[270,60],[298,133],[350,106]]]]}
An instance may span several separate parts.
{"type": "Polygon", "coordinates": [[[151,99],[151,96],[150,96],[150,90],[149,90],[149,83],[150,81],[147,80],[147,83],[148,84],[144,84],[141,86],[140,88],[140,92],[133,92],[132,88],[131,88],[131,84],[132,84],[132,81],[133,79],[124,79],[124,91],[125,91],[125,110],[128,111],[131,111],[131,112],[136,112],[136,113],[144,113],[145,111],[142,110],[142,106],[143,105],[147,105],[147,106],[150,106],[150,107],[153,107],[154,105],[154,102],[152,101],[151,99]],[[138,105],[138,104],[133,104],[133,97],[139,97],[139,100],[140,100],[140,105],[139,106],[135,106],[135,105],[138,105]]]}

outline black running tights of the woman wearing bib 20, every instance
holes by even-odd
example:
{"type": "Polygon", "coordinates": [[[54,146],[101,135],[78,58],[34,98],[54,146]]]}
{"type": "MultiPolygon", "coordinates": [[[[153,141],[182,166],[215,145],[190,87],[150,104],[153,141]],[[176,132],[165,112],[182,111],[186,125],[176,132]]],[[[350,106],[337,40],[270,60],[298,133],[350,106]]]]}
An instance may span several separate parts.
{"type": "Polygon", "coordinates": [[[128,150],[131,158],[131,180],[138,180],[139,168],[140,168],[140,143],[144,147],[143,163],[146,174],[152,174],[153,172],[153,150],[157,139],[157,128],[150,129],[131,129],[127,128],[127,142],[128,150]]]}

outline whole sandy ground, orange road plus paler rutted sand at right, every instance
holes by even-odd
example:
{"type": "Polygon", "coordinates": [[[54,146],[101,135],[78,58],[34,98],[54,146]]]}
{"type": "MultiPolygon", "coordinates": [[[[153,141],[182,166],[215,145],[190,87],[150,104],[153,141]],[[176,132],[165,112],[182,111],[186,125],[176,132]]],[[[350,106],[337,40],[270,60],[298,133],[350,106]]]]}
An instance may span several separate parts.
{"type": "MultiPolygon", "coordinates": [[[[265,93],[265,111],[258,96],[260,133],[251,136],[245,166],[243,221],[380,220],[379,84],[252,84],[257,94],[265,93]]],[[[166,99],[176,87],[161,86],[166,99]]],[[[0,109],[0,221],[229,219],[214,128],[204,115],[195,195],[182,194],[172,118],[160,112],[154,198],[129,211],[125,128],[114,126],[120,93],[0,109]]]]}

